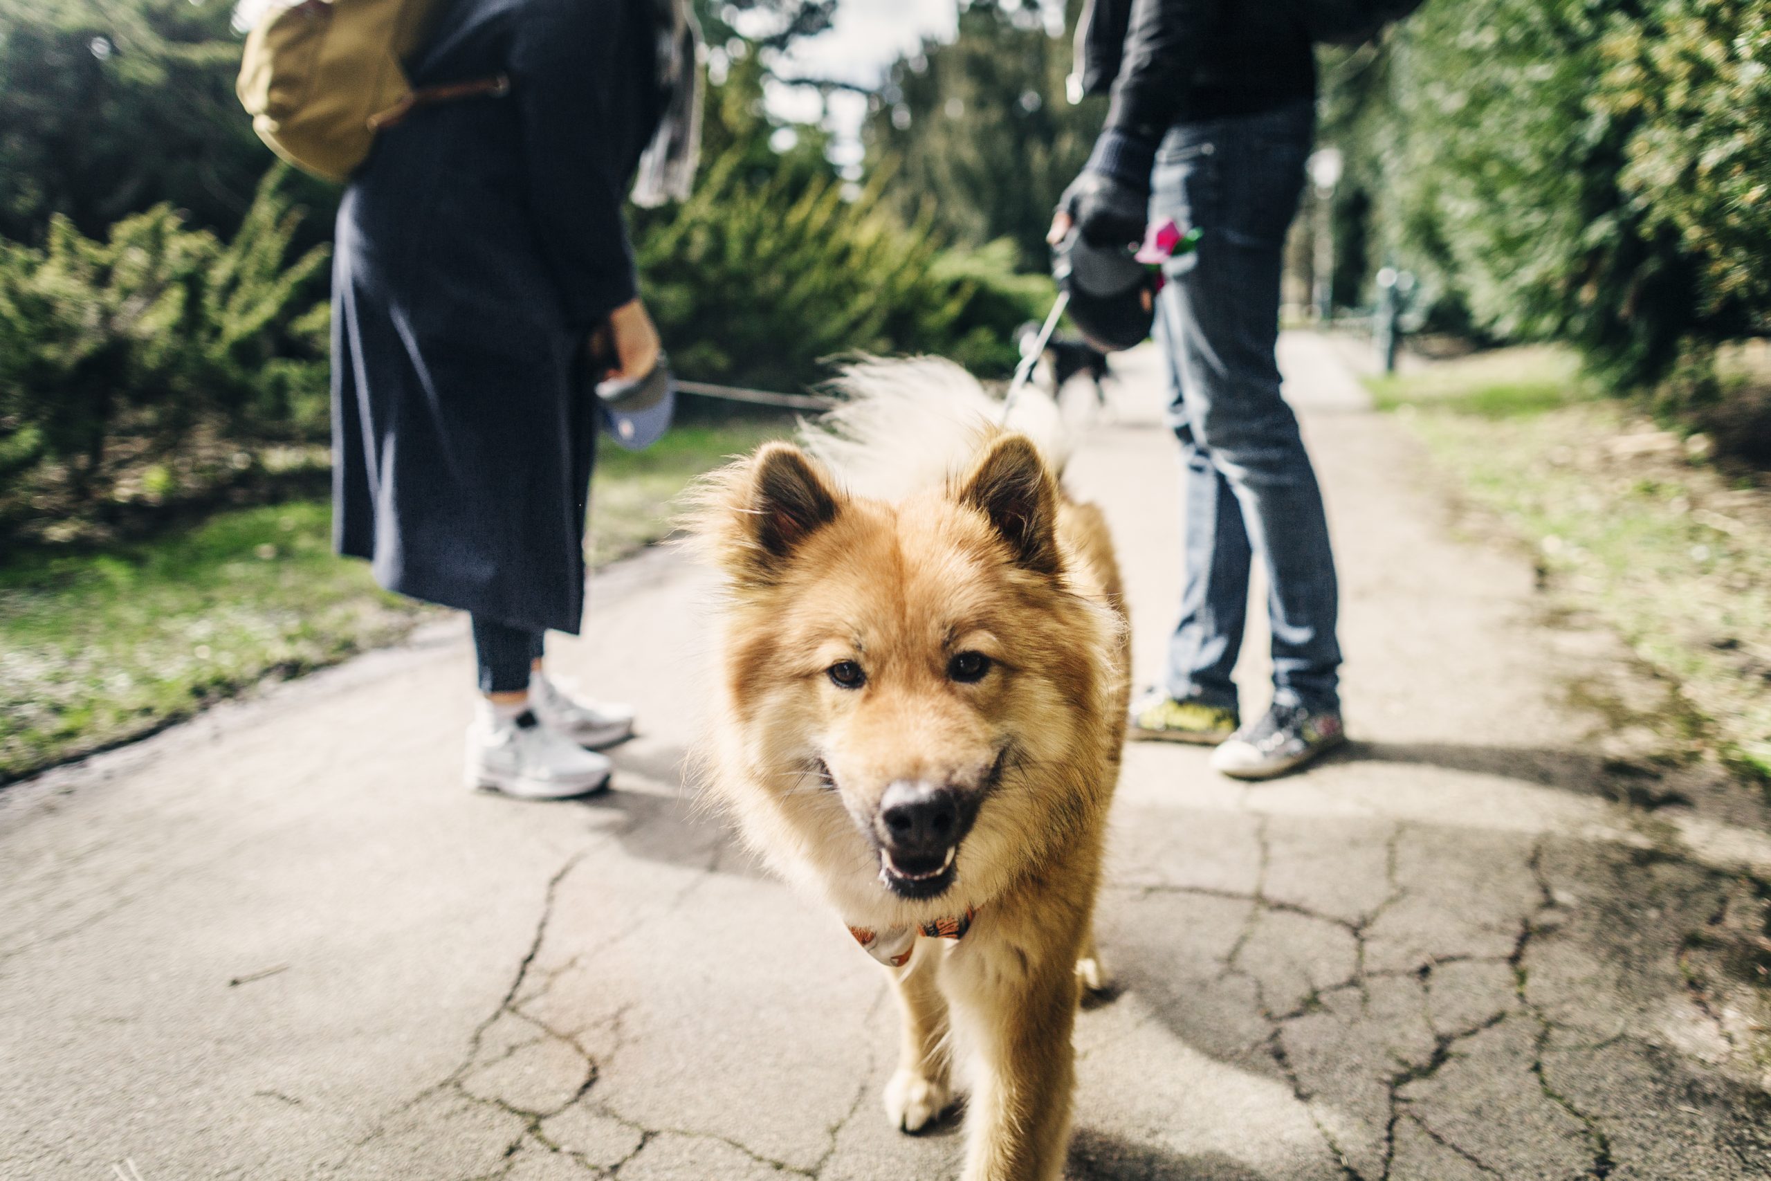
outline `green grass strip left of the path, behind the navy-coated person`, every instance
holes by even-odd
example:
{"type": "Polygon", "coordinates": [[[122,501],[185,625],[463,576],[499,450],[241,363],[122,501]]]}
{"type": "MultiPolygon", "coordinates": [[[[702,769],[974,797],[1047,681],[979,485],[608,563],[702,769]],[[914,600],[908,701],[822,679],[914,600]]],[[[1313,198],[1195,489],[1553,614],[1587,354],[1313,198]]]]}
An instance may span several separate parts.
{"type": "MultiPolygon", "coordinates": [[[[781,423],[691,425],[648,452],[604,446],[592,490],[597,565],[668,529],[671,501],[781,423]]],[[[151,733],[264,680],[393,643],[430,609],[333,556],[331,506],[220,512],[103,552],[0,565],[0,783],[151,733]]]]}

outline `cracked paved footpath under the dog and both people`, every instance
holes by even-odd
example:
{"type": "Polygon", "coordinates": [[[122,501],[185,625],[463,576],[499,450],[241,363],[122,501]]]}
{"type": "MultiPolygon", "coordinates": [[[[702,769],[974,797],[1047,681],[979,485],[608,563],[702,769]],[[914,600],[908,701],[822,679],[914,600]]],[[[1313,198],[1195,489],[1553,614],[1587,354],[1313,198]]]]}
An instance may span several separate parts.
{"type": "MultiPolygon", "coordinates": [[[[1767,1064],[1686,960],[1771,876],[1762,811],[1672,793],[1567,706],[1633,683],[1615,641],[1454,540],[1328,343],[1282,358],[1358,742],[1259,788],[1130,751],[1070,1177],[1771,1176],[1767,1064]]],[[[1128,370],[1071,483],[1114,524],[1142,680],[1178,473],[1128,370]]],[[[705,595],[648,554],[560,645],[645,721],[602,799],[459,786],[459,625],[0,791],[0,1177],[955,1176],[956,1124],[886,1126],[877,965],[682,786],[705,595]]]]}

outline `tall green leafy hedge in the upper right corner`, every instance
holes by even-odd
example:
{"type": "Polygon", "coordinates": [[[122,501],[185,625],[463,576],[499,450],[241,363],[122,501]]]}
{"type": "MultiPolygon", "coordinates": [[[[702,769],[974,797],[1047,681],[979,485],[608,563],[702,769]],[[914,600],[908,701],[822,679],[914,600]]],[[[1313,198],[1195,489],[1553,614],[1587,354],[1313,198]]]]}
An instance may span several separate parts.
{"type": "Polygon", "coordinates": [[[1436,326],[1567,340],[1670,413],[1725,395],[1714,347],[1771,328],[1771,5],[1436,0],[1325,60],[1337,294],[1401,266],[1436,326]]]}

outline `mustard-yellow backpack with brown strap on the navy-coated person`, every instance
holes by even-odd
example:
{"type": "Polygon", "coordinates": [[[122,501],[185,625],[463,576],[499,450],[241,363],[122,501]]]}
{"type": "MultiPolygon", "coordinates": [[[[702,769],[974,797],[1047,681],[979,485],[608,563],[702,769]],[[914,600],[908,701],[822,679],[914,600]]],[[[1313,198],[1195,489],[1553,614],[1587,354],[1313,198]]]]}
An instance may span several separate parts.
{"type": "Polygon", "coordinates": [[[423,46],[443,4],[271,0],[246,35],[236,87],[253,131],[298,168],[345,181],[375,133],[413,106],[503,94],[503,76],[418,90],[407,81],[404,62],[423,46]]]}

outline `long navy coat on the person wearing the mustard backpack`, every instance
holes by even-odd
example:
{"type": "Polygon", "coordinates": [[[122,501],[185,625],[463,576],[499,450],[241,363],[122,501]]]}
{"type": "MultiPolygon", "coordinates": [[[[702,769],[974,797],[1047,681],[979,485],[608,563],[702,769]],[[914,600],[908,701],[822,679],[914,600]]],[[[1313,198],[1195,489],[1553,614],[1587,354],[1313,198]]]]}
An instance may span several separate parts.
{"type": "Polygon", "coordinates": [[[338,551],[416,598],[577,632],[593,407],[584,336],[634,297],[622,200],[659,119],[650,0],[453,0],[414,110],[338,209],[338,551]]]}

